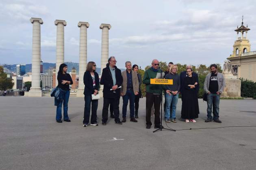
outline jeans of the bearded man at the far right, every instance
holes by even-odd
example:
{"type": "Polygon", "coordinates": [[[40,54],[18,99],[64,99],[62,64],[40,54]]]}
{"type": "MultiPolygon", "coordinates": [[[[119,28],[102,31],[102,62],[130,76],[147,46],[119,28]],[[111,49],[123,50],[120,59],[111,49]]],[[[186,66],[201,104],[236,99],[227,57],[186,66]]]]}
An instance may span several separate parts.
{"type": "Polygon", "coordinates": [[[219,94],[208,94],[207,95],[207,119],[219,119],[219,94]],[[213,117],[212,117],[213,107],[213,117]]]}

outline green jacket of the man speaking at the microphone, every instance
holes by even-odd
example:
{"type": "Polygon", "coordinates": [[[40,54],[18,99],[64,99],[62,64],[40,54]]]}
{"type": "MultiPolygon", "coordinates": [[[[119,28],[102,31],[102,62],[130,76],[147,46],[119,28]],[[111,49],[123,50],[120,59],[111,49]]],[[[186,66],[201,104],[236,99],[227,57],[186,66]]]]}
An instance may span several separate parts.
{"type": "Polygon", "coordinates": [[[151,85],[150,79],[156,78],[157,73],[161,74],[161,70],[159,69],[157,72],[154,72],[152,68],[149,68],[145,71],[144,77],[143,77],[143,84],[146,85],[146,92],[148,93],[154,93],[154,94],[161,94],[162,85],[151,85]]]}

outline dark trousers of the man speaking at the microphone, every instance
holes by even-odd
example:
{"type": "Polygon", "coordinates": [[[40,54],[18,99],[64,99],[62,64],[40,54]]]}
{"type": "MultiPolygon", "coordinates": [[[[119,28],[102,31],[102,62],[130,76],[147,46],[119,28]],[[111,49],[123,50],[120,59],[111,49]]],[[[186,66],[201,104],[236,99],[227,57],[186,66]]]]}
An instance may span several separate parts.
{"type": "Polygon", "coordinates": [[[152,93],[146,93],[146,124],[147,125],[152,125],[151,123],[151,108],[154,103],[154,108],[155,108],[155,121],[154,124],[155,126],[160,125],[160,94],[152,94],[152,93]]]}

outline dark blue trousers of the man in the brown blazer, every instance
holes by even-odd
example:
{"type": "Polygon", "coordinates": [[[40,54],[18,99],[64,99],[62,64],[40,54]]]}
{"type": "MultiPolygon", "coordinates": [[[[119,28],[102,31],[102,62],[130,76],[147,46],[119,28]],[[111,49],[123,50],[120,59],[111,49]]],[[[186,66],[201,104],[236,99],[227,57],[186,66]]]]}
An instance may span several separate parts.
{"type": "Polygon", "coordinates": [[[127,90],[126,94],[123,96],[123,117],[126,117],[126,112],[127,112],[127,105],[128,105],[128,100],[130,100],[130,118],[134,117],[134,103],[135,103],[135,94],[133,90],[127,90]]]}

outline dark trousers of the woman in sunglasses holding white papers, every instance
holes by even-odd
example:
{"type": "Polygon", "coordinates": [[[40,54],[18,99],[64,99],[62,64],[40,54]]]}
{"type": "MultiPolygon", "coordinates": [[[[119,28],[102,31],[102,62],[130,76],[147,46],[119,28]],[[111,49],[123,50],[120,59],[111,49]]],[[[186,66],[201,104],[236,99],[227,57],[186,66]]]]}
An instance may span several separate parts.
{"type": "Polygon", "coordinates": [[[91,110],[91,123],[97,123],[97,109],[98,109],[98,100],[91,100],[91,95],[85,95],[85,111],[84,111],[84,120],[83,124],[88,124],[90,119],[90,110],[91,110]]]}

